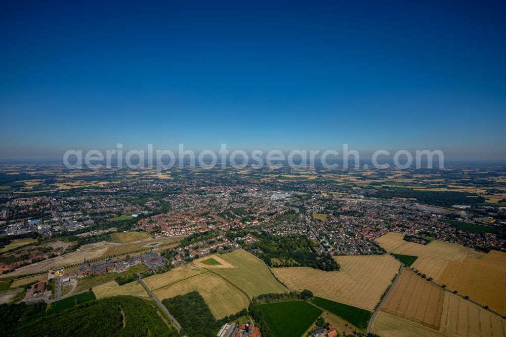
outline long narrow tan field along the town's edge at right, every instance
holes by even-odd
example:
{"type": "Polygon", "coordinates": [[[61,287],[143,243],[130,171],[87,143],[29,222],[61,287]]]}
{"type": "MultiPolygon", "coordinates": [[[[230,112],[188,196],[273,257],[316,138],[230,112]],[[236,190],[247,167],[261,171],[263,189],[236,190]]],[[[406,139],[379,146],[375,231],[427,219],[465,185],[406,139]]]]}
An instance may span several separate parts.
{"type": "Polygon", "coordinates": [[[429,244],[418,244],[403,240],[404,235],[399,233],[388,233],[378,237],[376,241],[395,254],[413,255],[423,258],[442,259],[461,262],[467,257],[482,258],[485,253],[476,251],[473,248],[450,242],[434,240],[429,244]]]}

